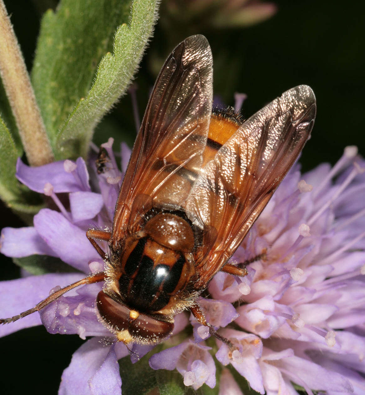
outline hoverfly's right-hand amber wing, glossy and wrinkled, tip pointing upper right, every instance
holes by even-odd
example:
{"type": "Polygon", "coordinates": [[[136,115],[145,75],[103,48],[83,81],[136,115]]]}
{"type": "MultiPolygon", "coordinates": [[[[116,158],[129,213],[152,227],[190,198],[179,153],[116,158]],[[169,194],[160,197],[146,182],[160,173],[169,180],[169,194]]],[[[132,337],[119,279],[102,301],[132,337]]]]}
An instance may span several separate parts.
{"type": "Polygon", "coordinates": [[[238,128],[204,167],[186,211],[193,223],[217,230],[212,251],[198,263],[195,288],[232,256],[309,138],[316,114],[312,89],[292,88],[238,128]]]}

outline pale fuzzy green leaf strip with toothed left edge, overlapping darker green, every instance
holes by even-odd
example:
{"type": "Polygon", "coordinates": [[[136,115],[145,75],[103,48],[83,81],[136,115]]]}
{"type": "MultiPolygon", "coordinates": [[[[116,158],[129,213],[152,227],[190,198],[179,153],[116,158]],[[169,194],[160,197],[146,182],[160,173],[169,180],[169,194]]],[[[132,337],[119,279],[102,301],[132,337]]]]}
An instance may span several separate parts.
{"type": "Polygon", "coordinates": [[[159,0],[135,0],[129,24],[118,28],[113,54],[101,60],[94,85],[81,99],[57,137],[60,158],[86,156],[94,128],[125,93],[157,19],[159,0]]]}

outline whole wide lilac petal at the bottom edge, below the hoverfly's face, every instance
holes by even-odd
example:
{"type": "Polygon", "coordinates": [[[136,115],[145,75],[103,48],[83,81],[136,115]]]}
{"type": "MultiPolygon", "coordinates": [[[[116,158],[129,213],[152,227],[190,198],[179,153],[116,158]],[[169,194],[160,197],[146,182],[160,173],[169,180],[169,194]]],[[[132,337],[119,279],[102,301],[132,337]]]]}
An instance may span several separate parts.
{"type": "Polygon", "coordinates": [[[90,395],[90,390],[99,391],[92,392],[98,394],[120,394],[121,389],[118,390],[117,387],[119,369],[116,370],[115,367],[119,356],[116,356],[114,346],[105,346],[103,338],[93,337],[88,340],[73,353],[71,363],[62,373],[58,394],[90,395]],[[117,377],[111,377],[113,372],[117,377]],[[108,382],[110,378],[111,383],[108,382]],[[109,389],[115,392],[108,392],[109,389]]]}

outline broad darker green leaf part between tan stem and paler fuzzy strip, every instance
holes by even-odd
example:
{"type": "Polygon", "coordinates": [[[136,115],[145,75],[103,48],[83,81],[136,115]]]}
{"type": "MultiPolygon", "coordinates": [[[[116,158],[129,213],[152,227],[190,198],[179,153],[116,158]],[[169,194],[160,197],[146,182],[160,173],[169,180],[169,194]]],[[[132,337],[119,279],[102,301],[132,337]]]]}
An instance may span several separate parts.
{"type": "Polygon", "coordinates": [[[131,0],[62,0],[41,22],[32,83],[54,148],[56,134],[92,85],[131,0]]]}

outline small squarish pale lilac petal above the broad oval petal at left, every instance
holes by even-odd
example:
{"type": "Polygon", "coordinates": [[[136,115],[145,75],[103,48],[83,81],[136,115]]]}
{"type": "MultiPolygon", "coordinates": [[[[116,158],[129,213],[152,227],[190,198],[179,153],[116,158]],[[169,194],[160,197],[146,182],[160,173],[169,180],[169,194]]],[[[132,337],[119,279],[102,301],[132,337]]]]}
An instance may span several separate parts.
{"type": "Polygon", "coordinates": [[[69,194],[69,199],[74,222],[94,218],[104,205],[101,194],[95,192],[72,192],[69,194]]]}

